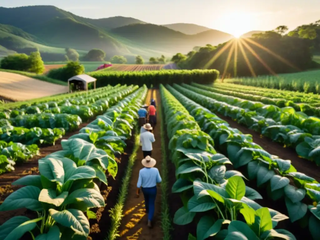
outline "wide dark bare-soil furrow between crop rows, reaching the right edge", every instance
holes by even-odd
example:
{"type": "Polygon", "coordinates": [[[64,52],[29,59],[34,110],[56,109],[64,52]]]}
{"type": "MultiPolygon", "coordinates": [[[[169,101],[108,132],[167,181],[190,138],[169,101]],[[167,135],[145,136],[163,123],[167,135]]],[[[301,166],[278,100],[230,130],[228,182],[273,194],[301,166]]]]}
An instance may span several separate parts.
{"type": "Polygon", "coordinates": [[[292,165],[297,169],[298,172],[302,172],[316,179],[318,182],[320,181],[319,167],[307,159],[298,157],[293,148],[283,148],[280,143],[273,142],[269,138],[261,136],[260,133],[254,132],[253,130],[248,129],[246,126],[236,123],[235,121],[231,120],[231,118],[217,113],[215,114],[221,119],[227,121],[231,127],[240,130],[244,134],[251,134],[253,142],[259,144],[268,153],[276,155],[284,160],[291,160],[292,165]]]}

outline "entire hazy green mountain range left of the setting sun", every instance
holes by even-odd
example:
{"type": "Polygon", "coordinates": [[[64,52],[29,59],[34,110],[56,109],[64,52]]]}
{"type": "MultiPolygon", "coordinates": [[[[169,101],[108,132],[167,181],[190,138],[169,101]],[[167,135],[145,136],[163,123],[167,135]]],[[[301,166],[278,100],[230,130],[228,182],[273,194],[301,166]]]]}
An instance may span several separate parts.
{"type": "Polygon", "coordinates": [[[149,58],[161,54],[170,57],[177,52],[187,53],[194,46],[217,45],[233,38],[196,24],[166,27],[121,16],[90,19],[50,5],[0,7],[0,24],[2,52],[4,48],[17,52],[38,48],[40,52],[61,55],[64,48],[70,47],[82,52],[100,48],[107,58],[113,55],[149,58]]]}

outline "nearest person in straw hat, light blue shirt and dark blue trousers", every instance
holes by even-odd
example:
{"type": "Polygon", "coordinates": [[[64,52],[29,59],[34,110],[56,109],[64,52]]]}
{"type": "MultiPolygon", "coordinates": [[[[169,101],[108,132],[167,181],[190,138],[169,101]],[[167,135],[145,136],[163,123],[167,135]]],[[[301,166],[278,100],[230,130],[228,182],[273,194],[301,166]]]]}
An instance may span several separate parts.
{"type": "Polygon", "coordinates": [[[160,183],[161,176],[159,170],[155,168],[156,160],[146,156],[141,161],[144,168],[140,169],[137,183],[137,195],[139,197],[140,188],[144,196],[146,212],[148,214],[148,227],[152,228],[152,219],[155,213],[155,201],[157,195],[157,183],[160,183]]]}

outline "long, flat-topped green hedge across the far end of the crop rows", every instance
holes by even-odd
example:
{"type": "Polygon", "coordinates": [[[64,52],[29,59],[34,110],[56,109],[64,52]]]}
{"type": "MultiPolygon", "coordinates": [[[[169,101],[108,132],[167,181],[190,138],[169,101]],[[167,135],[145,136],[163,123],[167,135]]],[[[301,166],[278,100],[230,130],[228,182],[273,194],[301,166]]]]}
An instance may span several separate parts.
{"type": "Polygon", "coordinates": [[[90,72],[88,75],[97,79],[96,86],[103,87],[116,84],[137,84],[148,87],[153,84],[158,87],[159,84],[190,84],[196,82],[199,84],[212,84],[219,76],[217,70],[160,70],[160,71],[135,71],[135,72],[113,72],[97,71],[90,72]]]}

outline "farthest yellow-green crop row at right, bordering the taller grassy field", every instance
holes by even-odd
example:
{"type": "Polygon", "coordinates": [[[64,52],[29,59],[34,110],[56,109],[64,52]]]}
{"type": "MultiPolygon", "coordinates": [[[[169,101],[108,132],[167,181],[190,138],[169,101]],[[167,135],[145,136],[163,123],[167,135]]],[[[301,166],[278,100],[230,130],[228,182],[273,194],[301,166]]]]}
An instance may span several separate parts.
{"type": "MultiPolygon", "coordinates": [[[[292,92],[292,91],[286,91],[286,90],[260,88],[260,87],[228,84],[228,83],[215,83],[213,87],[215,89],[220,89],[220,90],[232,89],[233,91],[236,90],[239,93],[252,94],[254,95],[254,97],[260,97],[261,100],[259,101],[261,102],[265,100],[264,98],[267,98],[267,100],[277,99],[277,100],[292,101],[294,103],[307,103],[313,107],[320,106],[319,96],[313,93],[292,92]]],[[[255,101],[258,101],[258,100],[255,100],[255,101]]]]}

